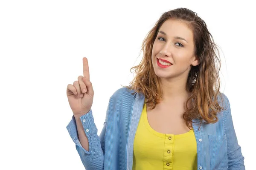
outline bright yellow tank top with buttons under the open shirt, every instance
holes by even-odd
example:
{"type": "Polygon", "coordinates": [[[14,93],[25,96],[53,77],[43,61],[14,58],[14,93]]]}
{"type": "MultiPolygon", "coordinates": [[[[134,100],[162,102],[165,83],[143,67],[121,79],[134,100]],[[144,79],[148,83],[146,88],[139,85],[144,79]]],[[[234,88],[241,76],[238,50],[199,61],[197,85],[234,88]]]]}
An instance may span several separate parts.
{"type": "Polygon", "coordinates": [[[144,103],[134,138],[133,170],[197,170],[194,131],[179,135],[155,131],[144,103]]]}

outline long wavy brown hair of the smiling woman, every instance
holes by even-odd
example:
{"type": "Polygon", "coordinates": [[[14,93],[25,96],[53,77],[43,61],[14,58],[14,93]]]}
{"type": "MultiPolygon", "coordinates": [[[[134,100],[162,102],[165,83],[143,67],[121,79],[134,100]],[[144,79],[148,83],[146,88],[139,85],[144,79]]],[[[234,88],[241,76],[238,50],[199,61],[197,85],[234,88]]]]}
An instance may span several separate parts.
{"type": "Polygon", "coordinates": [[[223,102],[223,97],[219,91],[220,78],[218,73],[221,67],[218,58],[219,50],[204,20],[188,8],[177,8],[163,13],[143,40],[143,59],[139,65],[131,68],[131,70],[135,69],[136,76],[129,86],[123,87],[134,90],[134,93],[143,93],[149,109],[154,109],[160,103],[163,91],[160,88],[160,78],[154,72],[151,54],[157,32],[168,19],[180,20],[189,26],[194,35],[195,56],[199,59],[199,65],[192,66],[186,82],[186,90],[192,94],[186,100],[186,111],[183,113],[186,126],[192,129],[189,124],[195,118],[200,119],[200,126],[202,122],[206,124],[216,123],[218,122],[217,113],[224,109],[218,103],[218,96],[223,102]],[[188,108],[188,103],[191,100],[193,101],[192,107],[188,108]]]}

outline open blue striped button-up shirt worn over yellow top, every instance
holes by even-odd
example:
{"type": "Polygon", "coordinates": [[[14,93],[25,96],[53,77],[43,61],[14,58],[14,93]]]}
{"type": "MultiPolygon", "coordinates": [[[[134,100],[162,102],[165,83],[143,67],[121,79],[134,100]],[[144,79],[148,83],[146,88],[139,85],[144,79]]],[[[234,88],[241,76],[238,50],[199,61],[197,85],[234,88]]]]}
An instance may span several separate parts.
{"type": "MultiPolygon", "coordinates": [[[[78,139],[74,116],[67,130],[86,170],[132,170],[134,136],[142,113],[145,96],[119,88],[108,103],[106,119],[100,135],[94,123],[92,110],[80,117],[89,142],[89,152],[78,139]]],[[[224,108],[217,114],[219,121],[201,124],[193,119],[197,141],[198,170],[245,170],[233,126],[230,102],[223,93],[224,108]]]]}

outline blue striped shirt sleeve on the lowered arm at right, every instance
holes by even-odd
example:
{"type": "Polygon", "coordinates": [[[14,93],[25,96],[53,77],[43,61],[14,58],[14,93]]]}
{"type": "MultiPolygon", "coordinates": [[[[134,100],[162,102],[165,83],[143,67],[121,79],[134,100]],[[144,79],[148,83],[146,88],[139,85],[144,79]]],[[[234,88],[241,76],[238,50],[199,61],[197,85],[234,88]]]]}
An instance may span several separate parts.
{"type": "Polygon", "coordinates": [[[224,95],[226,110],[224,111],[224,130],[227,136],[227,158],[228,170],[245,170],[244,156],[241,153],[241,147],[237,142],[236,132],[233,125],[230,102],[224,95]]]}

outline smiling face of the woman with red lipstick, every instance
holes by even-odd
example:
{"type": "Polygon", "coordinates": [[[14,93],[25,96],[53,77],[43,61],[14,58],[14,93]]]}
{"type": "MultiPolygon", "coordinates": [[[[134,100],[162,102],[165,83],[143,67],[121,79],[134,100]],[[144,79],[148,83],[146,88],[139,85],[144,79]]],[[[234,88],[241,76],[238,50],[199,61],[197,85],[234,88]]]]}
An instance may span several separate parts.
{"type": "Polygon", "coordinates": [[[191,65],[198,65],[192,30],[179,20],[166,20],[157,33],[151,59],[154,72],[161,79],[187,78],[191,65]]]}

